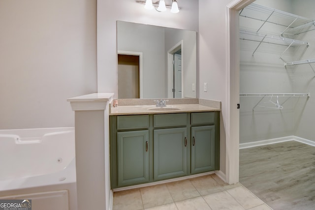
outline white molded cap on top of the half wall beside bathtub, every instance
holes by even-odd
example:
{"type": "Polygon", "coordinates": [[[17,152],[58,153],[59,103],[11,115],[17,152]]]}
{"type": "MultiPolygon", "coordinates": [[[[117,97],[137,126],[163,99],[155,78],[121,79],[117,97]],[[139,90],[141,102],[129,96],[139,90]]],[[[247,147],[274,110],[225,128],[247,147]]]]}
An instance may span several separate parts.
{"type": "Polygon", "coordinates": [[[68,98],[73,111],[105,110],[114,93],[97,92],[68,98]]]}

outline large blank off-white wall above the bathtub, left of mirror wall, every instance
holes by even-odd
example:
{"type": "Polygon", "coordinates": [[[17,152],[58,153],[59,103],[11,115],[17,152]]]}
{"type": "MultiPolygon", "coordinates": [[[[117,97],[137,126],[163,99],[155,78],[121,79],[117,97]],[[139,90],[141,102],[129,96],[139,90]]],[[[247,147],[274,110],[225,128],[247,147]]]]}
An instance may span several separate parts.
{"type": "Polygon", "coordinates": [[[0,129],[74,126],[96,91],[96,0],[0,1],[0,129]]]}

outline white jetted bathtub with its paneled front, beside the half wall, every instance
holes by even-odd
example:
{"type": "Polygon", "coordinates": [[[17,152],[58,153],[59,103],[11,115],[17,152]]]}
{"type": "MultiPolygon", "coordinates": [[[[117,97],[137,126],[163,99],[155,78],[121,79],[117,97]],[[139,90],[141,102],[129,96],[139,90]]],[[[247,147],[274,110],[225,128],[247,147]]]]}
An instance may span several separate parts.
{"type": "Polygon", "coordinates": [[[0,130],[0,199],[20,198],[32,210],[77,209],[73,127],[0,130]]]}

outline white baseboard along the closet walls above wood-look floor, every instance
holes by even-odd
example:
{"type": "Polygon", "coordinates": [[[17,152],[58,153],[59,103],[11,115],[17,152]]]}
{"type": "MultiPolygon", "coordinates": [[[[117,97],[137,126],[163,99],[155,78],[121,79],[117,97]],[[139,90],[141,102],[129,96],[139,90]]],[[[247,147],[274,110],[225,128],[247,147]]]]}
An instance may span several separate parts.
{"type": "Polygon", "coordinates": [[[288,141],[297,141],[297,142],[301,142],[301,143],[315,147],[314,141],[304,139],[304,138],[301,138],[298,136],[285,136],[285,137],[275,138],[275,139],[267,139],[267,140],[256,141],[256,142],[241,143],[240,144],[240,150],[246,149],[246,148],[258,147],[258,146],[288,142],[288,141]]]}

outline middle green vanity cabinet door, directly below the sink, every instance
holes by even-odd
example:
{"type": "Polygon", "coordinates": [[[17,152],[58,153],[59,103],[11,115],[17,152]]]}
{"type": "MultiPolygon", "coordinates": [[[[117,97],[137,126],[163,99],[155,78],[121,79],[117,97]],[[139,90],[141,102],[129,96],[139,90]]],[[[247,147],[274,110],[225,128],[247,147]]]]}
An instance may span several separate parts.
{"type": "Polygon", "coordinates": [[[154,180],[187,175],[187,128],[154,130],[154,180]]]}

